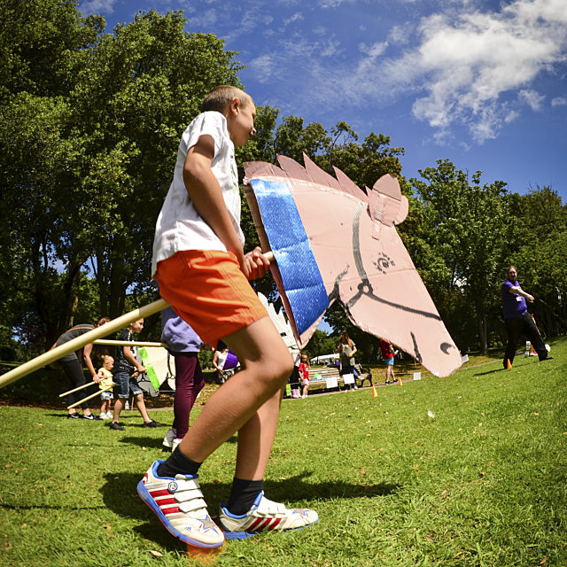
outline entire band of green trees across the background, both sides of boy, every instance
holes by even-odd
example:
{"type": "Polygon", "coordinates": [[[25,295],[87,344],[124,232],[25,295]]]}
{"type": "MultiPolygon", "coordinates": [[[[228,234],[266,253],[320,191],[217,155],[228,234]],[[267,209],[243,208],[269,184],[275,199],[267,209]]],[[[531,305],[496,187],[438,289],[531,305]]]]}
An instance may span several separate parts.
{"type": "MultiPolygon", "coordinates": [[[[155,297],[153,231],[179,138],[207,91],[242,86],[242,66],[221,39],[186,31],[183,12],[140,12],[106,34],[105,20],[83,18],[77,0],[0,4],[0,206],[9,212],[0,225],[0,347],[43,350],[74,322],[155,297]]],[[[270,106],[257,113],[256,136],[237,149],[241,176],[245,161],[301,162],[306,153],[361,188],[398,177],[409,198],[400,236],[462,349],[501,341],[509,263],[539,299],[540,328],[565,329],[567,210],[551,188],[520,196],[447,160],[408,182],[404,149],[389,136],[359,141],[345,121],[328,131],[270,106]]],[[[257,245],[245,203],[242,226],[247,247],[257,245]]],[[[254,286],[276,299],[269,276],[254,286]]],[[[362,360],[374,358],[376,338],[353,329],[338,306],[325,320],[351,332],[362,360]]],[[[157,338],[158,322],[144,332],[157,338]]],[[[318,332],[307,348],[334,342],[318,332]]]]}

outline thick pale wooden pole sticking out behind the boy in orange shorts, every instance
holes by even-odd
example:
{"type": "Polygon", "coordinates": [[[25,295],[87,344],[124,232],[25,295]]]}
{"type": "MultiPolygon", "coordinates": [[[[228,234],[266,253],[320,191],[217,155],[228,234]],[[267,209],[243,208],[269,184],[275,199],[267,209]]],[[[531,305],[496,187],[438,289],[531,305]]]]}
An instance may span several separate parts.
{"type": "Polygon", "coordinates": [[[66,354],[78,351],[83,346],[89,345],[89,343],[97,340],[97,338],[103,338],[117,330],[124,329],[125,327],[128,327],[131,322],[143,319],[144,317],[149,317],[166,307],[169,307],[169,303],[167,303],[165,299],[158,299],[153,301],[150,305],[134,309],[134,311],[130,311],[125,315],[120,315],[120,317],[113,319],[111,322],[107,322],[96,329],[89,330],[88,333],[81,335],[81,337],[74,338],[68,343],[65,343],[65,345],[57,346],[47,353],[36,356],[31,361],[24,362],[17,369],[12,369],[9,372],[6,372],[0,377],[0,388],[4,388],[4,386],[8,384],[12,384],[12,382],[19,380],[19,378],[23,378],[35,370],[47,366],[51,362],[58,361],[58,359],[66,354]]]}

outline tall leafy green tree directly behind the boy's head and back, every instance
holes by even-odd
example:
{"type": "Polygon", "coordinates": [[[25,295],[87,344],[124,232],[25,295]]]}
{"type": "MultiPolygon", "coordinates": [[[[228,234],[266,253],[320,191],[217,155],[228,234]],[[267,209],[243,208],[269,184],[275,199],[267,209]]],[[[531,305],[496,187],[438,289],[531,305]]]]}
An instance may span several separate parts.
{"type": "Polygon", "coordinates": [[[124,310],[125,293],[151,283],[151,242],[179,138],[206,92],[239,86],[241,66],[214,35],[184,31],[182,12],[136,14],[101,35],[72,93],[83,136],[77,160],[80,215],[89,234],[101,312],[124,310]]]}

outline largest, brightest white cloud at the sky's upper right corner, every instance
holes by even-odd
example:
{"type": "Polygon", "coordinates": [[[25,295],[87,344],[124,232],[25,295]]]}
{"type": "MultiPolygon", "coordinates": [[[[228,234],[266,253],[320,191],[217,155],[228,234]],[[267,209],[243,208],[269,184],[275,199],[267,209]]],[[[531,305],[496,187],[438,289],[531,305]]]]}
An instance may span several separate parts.
{"type": "Polygon", "coordinates": [[[387,65],[398,67],[392,87],[424,91],[413,113],[441,134],[464,125],[478,143],[493,138],[516,117],[511,94],[540,110],[543,97],[529,87],[567,56],[564,7],[563,0],[517,0],[499,13],[423,19],[422,43],[387,65]]]}

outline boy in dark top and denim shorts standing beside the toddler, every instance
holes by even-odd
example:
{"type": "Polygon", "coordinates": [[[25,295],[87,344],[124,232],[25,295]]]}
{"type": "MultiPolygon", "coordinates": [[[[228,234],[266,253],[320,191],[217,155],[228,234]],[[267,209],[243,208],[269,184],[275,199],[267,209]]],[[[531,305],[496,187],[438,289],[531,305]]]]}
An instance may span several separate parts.
{"type": "MultiPolygon", "coordinates": [[[[134,335],[144,329],[144,319],[138,319],[128,325],[128,329],[123,330],[118,338],[121,341],[133,341],[134,335]]],[[[161,423],[154,422],[145,408],[144,390],[140,388],[136,377],[144,374],[144,367],[136,361],[135,346],[119,345],[116,347],[116,360],[114,362],[114,382],[118,398],[114,402],[113,423],[110,428],[117,431],[124,431],[124,424],[120,423],[120,412],[126,405],[130,392],[136,400],[136,408],[144,419],[144,427],[162,427],[161,423]]]]}

